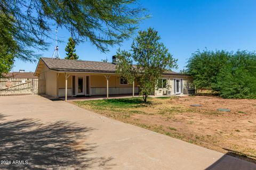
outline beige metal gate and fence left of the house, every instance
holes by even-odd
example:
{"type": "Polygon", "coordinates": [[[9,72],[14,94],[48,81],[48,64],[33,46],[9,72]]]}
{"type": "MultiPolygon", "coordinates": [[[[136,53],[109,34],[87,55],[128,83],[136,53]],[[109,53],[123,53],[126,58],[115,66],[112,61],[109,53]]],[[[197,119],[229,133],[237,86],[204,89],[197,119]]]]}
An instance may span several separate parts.
{"type": "Polygon", "coordinates": [[[38,93],[38,79],[1,78],[0,96],[38,93]]]}

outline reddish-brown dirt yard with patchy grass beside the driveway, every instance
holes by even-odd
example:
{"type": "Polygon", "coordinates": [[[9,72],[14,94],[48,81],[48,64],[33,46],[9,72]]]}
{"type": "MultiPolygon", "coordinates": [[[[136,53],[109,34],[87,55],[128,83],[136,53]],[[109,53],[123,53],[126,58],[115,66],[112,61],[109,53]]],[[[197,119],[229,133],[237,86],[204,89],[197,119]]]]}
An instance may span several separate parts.
{"type": "Polygon", "coordinates": [[[74,103],[119,121],[256,162],[256,100],[187,96],[150,98],[149,104],[143,104],[141,98],[74,103]]]}

